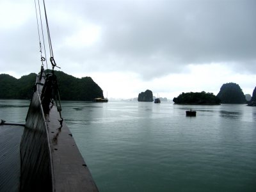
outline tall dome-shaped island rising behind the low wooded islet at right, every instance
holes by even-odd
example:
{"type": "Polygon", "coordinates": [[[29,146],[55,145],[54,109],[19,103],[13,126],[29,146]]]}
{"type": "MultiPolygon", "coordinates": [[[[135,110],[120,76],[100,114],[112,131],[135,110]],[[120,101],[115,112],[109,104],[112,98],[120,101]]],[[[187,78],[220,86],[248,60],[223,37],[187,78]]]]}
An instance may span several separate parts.
{"type": "Polygon", "coordinates": [[[243,90],[236,83],[225,83],[221,86],[217,97],[223,104],[244,104],[246,99],[243,90]]]}

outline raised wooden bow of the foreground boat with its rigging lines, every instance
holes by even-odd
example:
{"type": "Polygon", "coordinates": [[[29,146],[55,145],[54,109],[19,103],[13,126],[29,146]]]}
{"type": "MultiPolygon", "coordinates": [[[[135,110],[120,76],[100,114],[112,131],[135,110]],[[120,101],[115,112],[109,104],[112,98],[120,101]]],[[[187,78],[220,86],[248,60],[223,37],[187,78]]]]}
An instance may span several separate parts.
{"type": "MultiPolygon", "coordinates": [[[[42,55],[40,42],[42,64],[20,142],[20,191],[98,191],[72,133],[61,116],[58,78],[54,74],[54,68],[58,66],[52,52],[45,3],[41,2],[52,70],[45,74],[47,59],[42,55]]],[[[36,15],[40,12],[42,24],[39,1],[38,4],[35,1],[35,9],[36,15]]],[[[40,34],[43,33],[40,33],[38,25],[39,41],[40,34]]]]}

